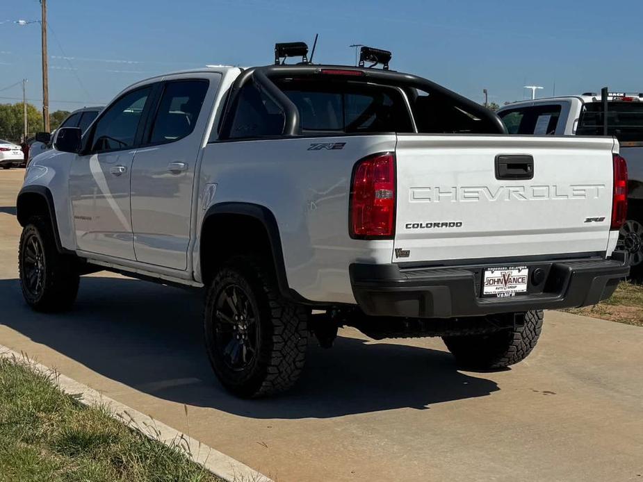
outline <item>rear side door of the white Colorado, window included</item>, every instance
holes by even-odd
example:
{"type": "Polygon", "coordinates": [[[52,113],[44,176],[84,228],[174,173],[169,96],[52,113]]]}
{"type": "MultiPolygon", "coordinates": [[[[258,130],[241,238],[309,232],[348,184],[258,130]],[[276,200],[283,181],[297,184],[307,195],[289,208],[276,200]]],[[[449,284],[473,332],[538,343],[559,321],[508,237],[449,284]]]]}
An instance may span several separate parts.
{"type": "Polygon", "coordinates": [[[133,245],[142,263],[187,269],[195,167],[220,80],[207,77],[163,83],[133,160],[133,245]]]}

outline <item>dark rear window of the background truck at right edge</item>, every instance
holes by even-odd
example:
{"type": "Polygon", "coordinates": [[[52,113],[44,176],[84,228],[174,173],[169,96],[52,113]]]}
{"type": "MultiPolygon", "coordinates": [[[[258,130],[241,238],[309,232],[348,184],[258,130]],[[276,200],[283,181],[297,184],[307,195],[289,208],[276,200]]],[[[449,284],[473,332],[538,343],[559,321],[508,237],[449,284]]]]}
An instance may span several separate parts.
{"type": "MultiPolygon", "coordinates": [[[[576,135],[603,135],[603,104],[585,103],[576,135]]],[[[621,141],[643,141],[643,102],[608,102],[608,135],[621,141]]]]}

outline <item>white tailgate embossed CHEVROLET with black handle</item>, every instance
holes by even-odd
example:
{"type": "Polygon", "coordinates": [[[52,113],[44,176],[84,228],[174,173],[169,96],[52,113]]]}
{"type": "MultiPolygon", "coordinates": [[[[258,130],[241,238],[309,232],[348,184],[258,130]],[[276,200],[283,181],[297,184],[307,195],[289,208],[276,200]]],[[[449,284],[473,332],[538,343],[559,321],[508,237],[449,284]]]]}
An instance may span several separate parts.
{"type": "Polygon", "coordinates": [[[613,148],[609,138],[398,135],[393,262],[604,252],[613,148]]]}

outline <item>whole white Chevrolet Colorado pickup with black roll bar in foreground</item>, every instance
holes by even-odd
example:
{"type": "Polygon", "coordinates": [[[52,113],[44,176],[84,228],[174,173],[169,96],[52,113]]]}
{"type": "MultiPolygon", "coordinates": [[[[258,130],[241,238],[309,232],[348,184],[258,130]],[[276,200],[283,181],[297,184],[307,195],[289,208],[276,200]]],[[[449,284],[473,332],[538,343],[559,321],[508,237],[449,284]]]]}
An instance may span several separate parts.
{"type": "Polygon", "coordinates": [[[611,138],[505,132],[477,103],[386,68],[149,78],[29,166],[24,298],[65,310],[79,276],[103,269],[204,288],[211,364],[242,397],[293,385],[309,333],[329,346],[344,325],[512,365],[544,308],[595,304],[628,273],[612,255],[627,174],[611,138]]]}

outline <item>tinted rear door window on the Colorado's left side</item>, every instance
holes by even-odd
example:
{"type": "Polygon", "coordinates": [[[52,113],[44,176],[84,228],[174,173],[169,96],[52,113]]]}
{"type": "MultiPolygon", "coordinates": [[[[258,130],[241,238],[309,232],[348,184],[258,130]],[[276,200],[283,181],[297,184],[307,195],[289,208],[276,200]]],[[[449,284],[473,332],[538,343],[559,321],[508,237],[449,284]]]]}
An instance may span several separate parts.
{"type": "Polygon", "coordinates": [[[174,142],[190,135],[199,118],[208,86],[209,82],[205,80],[167,83],[148,142],[174,142]]]}

